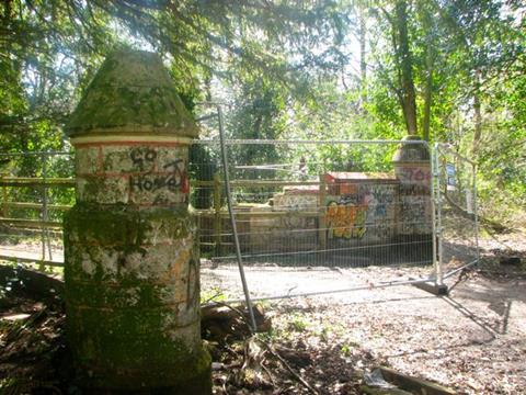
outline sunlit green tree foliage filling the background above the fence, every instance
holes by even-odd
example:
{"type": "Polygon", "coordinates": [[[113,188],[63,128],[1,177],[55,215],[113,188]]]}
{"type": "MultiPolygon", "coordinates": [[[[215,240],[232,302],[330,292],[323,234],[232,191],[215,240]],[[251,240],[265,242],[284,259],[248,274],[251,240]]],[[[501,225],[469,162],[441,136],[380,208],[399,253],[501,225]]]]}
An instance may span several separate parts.
{"type": "MultiPolygon", "coordinates": [[[[64,123],[115,46],[161,54],[196,115],[198,101],[227,102],[231,138],[399,139],[408,126],[401,105],[408,61],[399,35],[407,29],[419,133],[451,143],[478,162],[488,206],[494,206],[493,191],[503,189],[506,198],[499,204],[525,205],[521,1],[12,0],[0,5],[0,20],[2,151],[68,150],[64,123]],[[403,26],[397,19],[401,5],[403,26]]],[[[389,170],[392,149],[247,146],[232,149],[231,160],[262,165],[307,158],[309,176],[317,177],[320,169],[389,170]]],[[[210,180],[218,170],[217,153],[194,147],[191,158],[195,178],[210,180]]],[[[70,166],[57,158],[47,170],[62,177],[70,166]]],[[[38,156],[8,167],[19,176],[42,174],[38,156]]],[[[233,176],[282,177],[251,170],[233,176]]],[[[57,202],[72,199],[70,192],[50,193],[57,202]]],[[[195,191],[193,204],[209,206],[210,198],[195,191]]]]}

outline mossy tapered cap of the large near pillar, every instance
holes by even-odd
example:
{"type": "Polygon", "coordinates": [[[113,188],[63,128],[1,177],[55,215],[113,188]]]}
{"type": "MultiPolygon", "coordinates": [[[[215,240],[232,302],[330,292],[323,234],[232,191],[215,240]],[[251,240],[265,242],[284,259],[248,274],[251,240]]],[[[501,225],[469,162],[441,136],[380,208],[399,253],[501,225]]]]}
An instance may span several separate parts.
{"type": "Polygon", "coordinates": [[[69,137],[197,137],[161,58],[145,50],[110,54],[66,125],[69,137]]]}

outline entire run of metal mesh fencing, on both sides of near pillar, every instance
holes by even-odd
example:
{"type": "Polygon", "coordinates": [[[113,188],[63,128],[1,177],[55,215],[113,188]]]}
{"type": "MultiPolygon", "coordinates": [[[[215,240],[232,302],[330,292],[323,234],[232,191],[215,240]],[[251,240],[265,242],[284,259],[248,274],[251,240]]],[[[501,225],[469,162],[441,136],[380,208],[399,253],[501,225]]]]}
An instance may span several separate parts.
{"type": "MultiPolygon", "coordinates": [[[[427,151],[424,143],[227,140],[226,146],[252,297],[387,286],[432,272],[431,160],[411,155],[393,160],[401,146],[427,151]]],[[[75,203],[72,155],[2,158],[0,255],[60,263],[61,217],[75,203]]],[[[455,270],[478,257],[474,168],[446,147],[437,147],[434,158],[443,230],[438,255],[455,270]]],[[[188,172],[204,298],[242,298],[217,140],[194,142],[188,172]]]]}

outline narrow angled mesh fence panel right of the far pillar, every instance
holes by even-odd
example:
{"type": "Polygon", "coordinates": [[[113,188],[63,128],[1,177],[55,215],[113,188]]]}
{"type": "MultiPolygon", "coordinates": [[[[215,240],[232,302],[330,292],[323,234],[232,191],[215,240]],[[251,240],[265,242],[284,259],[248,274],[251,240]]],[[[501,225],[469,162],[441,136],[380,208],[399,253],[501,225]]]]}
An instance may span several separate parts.
{"type": "Polygon", "coordinates": [[[444,279],[479,260],[476,163],[451,146],[435,146],[438,259],[444,279]]]}

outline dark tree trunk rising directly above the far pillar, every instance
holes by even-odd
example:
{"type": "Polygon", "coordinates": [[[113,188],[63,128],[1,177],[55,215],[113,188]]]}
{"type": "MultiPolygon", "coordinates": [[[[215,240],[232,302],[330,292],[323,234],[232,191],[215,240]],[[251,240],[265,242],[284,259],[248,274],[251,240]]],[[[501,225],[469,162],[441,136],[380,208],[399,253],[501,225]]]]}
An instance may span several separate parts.
{"type": "Polygon", "coordinates": [[[396,30],[398,35],[397,58],[400,67],[400,88],[403,117],[408,134],[418,134],[416,99],[413,82],[413,63],[409,48],[408,34],[408,4],[405,0],[399,0],[396,4],[396,30]]]}

